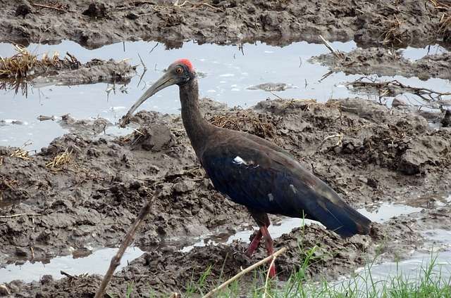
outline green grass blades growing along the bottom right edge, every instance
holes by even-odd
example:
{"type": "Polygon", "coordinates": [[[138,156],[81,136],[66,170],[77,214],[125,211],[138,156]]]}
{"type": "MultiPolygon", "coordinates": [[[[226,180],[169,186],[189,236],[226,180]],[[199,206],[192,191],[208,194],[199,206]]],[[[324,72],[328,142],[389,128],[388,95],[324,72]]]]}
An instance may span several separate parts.
{"type": "MultiPolygon", "coordinates": [[[[222,292],[218,292],[215,297],[451,298],[451,274],[448,271],[448,277],[445,278],[445,275],[442,274],[442,264],[438,264],[437,256],[434,254],[431,254],[431,258],[421,265],[415,276],[406,275],[404,271],[401,271],[398,267],[399,261],[397,259],[397,271],[392,276],[388,276],[384,280],[376,279],[373,276],[373,266],[376,260],[374,259],[372,261],[369,260],[361,272],[353,273],[350,278],[338,282],[326,279],[321,280],[318,276],[314,280],[310,278],[308,273],[309,266],[316,261],[321,261],[321,257],[315,257],[316,248],[316,246],[311,248],[303,247],[302,238],[299,239],[299,254],[302,254],[304,261],[302,264],[293,264],[293,267],[300,266],[300,268],[292,272],[290,278],[285,282],[269,280],[268,287],[265,288],[266,271],[263,268],[259,268],[252,273],[248,273],[245,282],[235,280],[222,292]],[[252,278],[249,278],[249,276],[252,276],[252,278]]],[[[214,286],[220,285],[225,281],[222,271],[220,278],[215,280],[214,285],[212,285],[211,280],[208,280],[211,275],[211,266],[209,266],[200,278],[197,280],[192,278],[190,280],[185,287],[182,297],[202,297],[209,290],[212,290],[214,286]]],[[[126,297],[130,297],[130,294],[132,294],[132,287],[132,284],[129,285],[126,297]]],[[[169,297],[170,294],[166,296],[169,297]]],[[[111,295],[110,297],[113,296],[111,295]]],[[[161,297],[161,294],[149,293],[149,297],[161,297]]]]}

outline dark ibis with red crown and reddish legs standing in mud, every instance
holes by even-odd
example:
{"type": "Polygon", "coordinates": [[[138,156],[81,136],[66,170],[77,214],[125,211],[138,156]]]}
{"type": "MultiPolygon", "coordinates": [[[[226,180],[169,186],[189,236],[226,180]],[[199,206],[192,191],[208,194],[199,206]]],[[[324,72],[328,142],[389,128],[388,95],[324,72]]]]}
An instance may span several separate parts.
{"type": "MultiPolygon", "coordinates": [[[[166,73],[132,105],[121,126],[147,98],[171,85],[179,87],[183,125],[214,187],[229,200],[245,205],[259,226],[246,251],[249,257],[261,238],[268,254],[273,254],[268,213],[313,219],[342,237],[369,233],[369,219],[278,145],[207,122],[199,110],[199,87],[190,60],[180,59],[169,65],[166,73]]],[[[275,268],[270,268],[271,276],[275,273],[275,268]]]]}

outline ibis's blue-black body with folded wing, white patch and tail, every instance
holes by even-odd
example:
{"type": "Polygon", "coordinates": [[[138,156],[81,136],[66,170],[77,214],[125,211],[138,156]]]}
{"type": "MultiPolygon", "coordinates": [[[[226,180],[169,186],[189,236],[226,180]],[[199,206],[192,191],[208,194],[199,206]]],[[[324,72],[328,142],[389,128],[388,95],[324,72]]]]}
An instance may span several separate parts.
{"type": "Polygon", "coordinates": [[[345,236],[367,233],[368,219],[280,150],[235,138],[210,145],[200,159],[216,189],[233,202],[256,212],[305,216],[345,236]]]}

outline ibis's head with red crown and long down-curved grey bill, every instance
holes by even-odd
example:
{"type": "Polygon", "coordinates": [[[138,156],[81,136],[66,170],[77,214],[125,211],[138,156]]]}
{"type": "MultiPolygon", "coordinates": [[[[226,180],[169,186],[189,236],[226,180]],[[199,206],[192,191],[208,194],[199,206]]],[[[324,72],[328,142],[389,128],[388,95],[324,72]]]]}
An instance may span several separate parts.
{"type": "Polygon", "coordinates": [[[190,60],[188,59],[179,59],[174,63],[169,65],[166,72],[160,77],[149,89],[147,89],[144,94],[136,101],[134,105],[128,110],[127,115],[123,117],[121,122],[121,127],[125,127],[126,124],[130,121],[130,116],[135,112],[135,110],[147,100],[147,98],[153,96],[158,91],[165,89],[168,86],[178,85],[183,86],[190,82],[196,76],[196,72],[194,72],[194,68],[190,60]]]}

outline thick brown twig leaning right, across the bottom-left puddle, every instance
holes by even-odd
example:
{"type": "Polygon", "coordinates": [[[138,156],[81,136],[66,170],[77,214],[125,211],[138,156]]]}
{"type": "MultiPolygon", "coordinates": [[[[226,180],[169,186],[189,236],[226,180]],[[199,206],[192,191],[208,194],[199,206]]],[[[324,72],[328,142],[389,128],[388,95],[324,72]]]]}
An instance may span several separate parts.
{"type": "Polygon", "coordinates": [[[147,214],[149,214],[150,208],[152,207],[152,203],[154,202],[154,197],[158,195],[159,191],[154,193],[154,195],[152,195],[152,197],[147,201],[146,205],[142,207],[140,214],[138,214],[137,218],[135,219],[135,222],[132,224],[130,231],[128,231],[127,235],[125,235],[125,238],[121,244],[121,247],[119,247],[118,252],[113,258],[111,258],[108,271],[106,271],[104,280],[101,281],[99,290],[97,290],[97,293],[94,296],[94,298],[104,297],[106,286],[110,282],[111,278],[113,278],[113,273],[116,270],[116,268],[118,268],[118,266],[121,264],[121,259],[123,254],[125,253],[125,250],[127,249],[128,245],[130,245],[130,243],[133,241],[137,229],[141,226],[144,219],[146,219],[147,214]]]}

